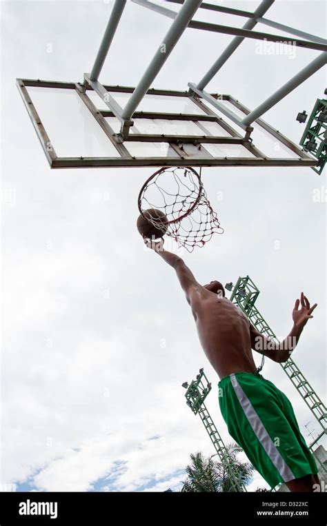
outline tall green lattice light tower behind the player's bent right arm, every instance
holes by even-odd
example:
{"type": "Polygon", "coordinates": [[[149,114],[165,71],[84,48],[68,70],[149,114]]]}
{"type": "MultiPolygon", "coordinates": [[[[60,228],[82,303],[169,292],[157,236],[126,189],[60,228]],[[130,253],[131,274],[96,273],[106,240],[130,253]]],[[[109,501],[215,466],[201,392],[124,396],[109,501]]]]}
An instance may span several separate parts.
{"type": "MultiPolygon", "coordinates": [[[[252,325],[254,325],[259,332],[265,334],[269,338],[273,338],[278,342],[277,336],[271,330],[268,323],[265,321],[264,317],[261,316],[257,307],[255,307],[255,301],[259,296],[259,289],[256,287],[255,283],[250,279],[249,276],[244,278],[239,277],[235,287],[232,283],[226,285],[227,290],[232,291],[230,295],[230,301],[235,303],[243,312],[248,316],[252,325]]],[[[326,407],[324,403],[320,400],[317,393],[313,390],[310,383],[306,380],[305,376],[299,370],[299,367],[295,364],[292,358],[288,358],[288,361],[280,364],[282,369],[286,372],[288,378],[293,383],[297,392],[304,399],[306,405],[308,405],[310,411],[313,413],[313,416],[317,419],[323,432],[317,437],[315,443],[321,438],[321,436],[326,433],[326,407]]]]}

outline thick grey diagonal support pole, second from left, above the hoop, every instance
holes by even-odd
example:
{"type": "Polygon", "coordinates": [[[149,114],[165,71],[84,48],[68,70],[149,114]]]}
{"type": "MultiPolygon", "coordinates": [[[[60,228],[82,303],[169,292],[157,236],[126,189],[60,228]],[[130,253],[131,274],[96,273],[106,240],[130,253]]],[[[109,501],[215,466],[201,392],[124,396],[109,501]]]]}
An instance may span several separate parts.
{"type": "Polygon", "coordinates": [[[161,45],[159,45],[159,48],[155,53],[155,57],[153,57],[152,61],[148,65],[146,72],[143,74],[143,77],[139,81],[137,88],[135,88],[132,97],[130,97],[130,100],[123,110],[121,117],[123,117],[123,119],[126,121],[131,119],[132,114],[135,112],[137,106],[150,88],[150,85],[157,77],[157,74],[168,59],[173,48],[175,48],[175,45],[179,41],[179,38],[183,34],[184,30],[186,30],[188,27],[188,23],[192,19],[193,14],[195,14],[197,11],[197,8],[199,8],[200,4],[201,0],[186,0],[184,2],[183,6],[179,10],[179,13],[177,14],[177,17],[172,22],[166,37],[162,41],[161,45]]]}

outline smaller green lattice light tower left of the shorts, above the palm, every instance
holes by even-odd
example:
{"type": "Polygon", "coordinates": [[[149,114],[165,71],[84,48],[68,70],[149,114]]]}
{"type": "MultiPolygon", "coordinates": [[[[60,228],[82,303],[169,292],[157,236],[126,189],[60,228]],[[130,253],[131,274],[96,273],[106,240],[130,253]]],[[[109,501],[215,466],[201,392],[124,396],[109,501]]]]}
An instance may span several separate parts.
{"type": "Polygon", "coordinates": [[[204,400],[208,396],[211,390],[211,383],[208,382],[208,378],[204,374],[204,370],[200,369],[199,374],[197,375],[196,380],[192,380],[190,385],[187,382],[183,384],[183,387],[186,388],[186,404],[194,414],[199,414],[206,432],[210,436],[210,440],[217,451],[217,455],[220,458],[222,465],[224,465],[228,476],[230,477],[230,482],[235,492],[246,492],[246,488],[243,483],[239,480],[237,473],[233,469],[233,464],[228,453],[228,449],[224,444],[223,439],[221,438],[215,423],[212,421],[212,418],[204,405],[204,400]],[[204,384],[206,381],[206,385],[204,384]]]}

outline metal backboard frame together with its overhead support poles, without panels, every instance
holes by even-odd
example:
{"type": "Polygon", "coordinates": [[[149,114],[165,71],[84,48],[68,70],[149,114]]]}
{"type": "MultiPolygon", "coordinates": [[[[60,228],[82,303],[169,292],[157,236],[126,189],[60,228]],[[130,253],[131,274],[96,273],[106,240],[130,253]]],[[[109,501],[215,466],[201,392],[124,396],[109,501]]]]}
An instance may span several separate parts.
{"type": "MultiPolygon", "coordinates": [[[[326,64],[326,40],[265,19],[264,14],[270,6],[273,5],[274,0],[261,1],[259,7],[253,13],[225,8],[212,3],[202,2],[201,0],[166,0],[161,1],[162,6],[148,0],[130,0],[130,2],[136,3],[142,8],[154,10],[172,19],[170,29],[159,44],[157,52],[135,88],[102,85],[98,80],[123,10],[128,3],[127,0],[115,0],[95,64],[90,74],[85,73],[83,75],[82,83],[43,81],[40,79],[17,79],[19,92],[26,105],[34,128],[37,131],[37,135],[39,136],[51,168],[108,168],[110,166],[159,167],[176,165],[315,167],[315,165],[317,165],[317,159],[301,150],[298,145],[281,134],[279,130],[275,130],[275,128],[263,121],[261,115],[326,64]],[[168,5],[169,3],[181,4],[179,11],[175,12],[164,7],[164,4],[168,5]],[[193,16],[198,8],[226,12],[239,17],[246,17],[248,20],[243,28],[196,21],[193,19],[193,16]],[[297,73],[295,77],[268,97],[266,101],[262,102],[254,110],[248,110],[248,108],[235,99],[235,97],[228,94],[210,94],[205,91],[205,88],[245,38],[273,42],[281,41],[280,35],[253,31],[257,23],[264,23],[282,32],[288,32],[289,34],[295,34],[297,37],[301,37],[301,39],[288,37],[291,38],[290,41],[284,41],[283,39],[282,42],[284,44],[296,44],[302,48],[310,48],[322,52],[314,61],[309,63],[306,68],[297,73]],[[157,74],[186,28],[227,33],[235,36],[203,79],[198,83],[188,83],[188,89],[185,92],[155,90],[151,88],[152,82],[157,77],[157,74]],[[165,46],[165,52],[162,52],[163,45],[165,46]],[[99,125],[103,134],[106,135],[106,139],[108,143],[110,143],[110,151],[114,154],[110,156],[58,156],[56,154],[56,145],[52,143],[42,123],[42,115],[39,114],[38,108],[36,108],[32,102],[28,92],[29,87],[51,88],[52,91],[55,88],[74,90],[79,99],[83,101],[85,108],[87,108],[88,112],[90,112],[95,119],[96,125],[99,125]],[[106,109],[103,110],[103,108],[97,107],[92,98],[88,96],[90,91],[100,97],[101,103],[104,103],[106,109]],[[122,93],[130,94],[124,108],[121,108],[121,105],[119,105],[117,101],[117,94],[122,93]],[[184,101],[196,105],[197,108],[199,108],[199,112],[191,112],[191,114],[187,114],[186,112],[142,112],[139,110],[139,106],[148,95],[157,95],[158,99],[162,96],[184,97],[184,101]],[[229,105],[226,105],[226,103],[229,105]],[[174,123],[180,123],[181,121],[184,121],[184,123],[192,123],[192,134],[179,134],[176,132],[178,126],[175,125],[174,128],[174,123]],[[112,123],[115,123],[115,126],[113,126],[112,123]],[[138,123],[143,132],[138,130],[138,123]],[[160,123],[161,125],[164,123],[164,132],[160,128],[160,123]],[[218,132],[210,131],[206,128],[206,123],[213,123],[211,124],[211,130],[218,130],[218,132]],[[234,125],[237,125],[237,129],[235,129],[234,125]],[[196,132],[194,131],[195,127],[196,130],[198,130],[196,132]],[[253,143],[252,138],[254,134],[253,131],[256,127],[264,130],[272,141],[283,145],[283,150],[287,152],[287,155],[272,156],[265,152],[265,150],[256,148],[257,145],[253,143]],[[157,133],[152,131],[154,128],[157,128],[157,133]],[[170,128],[172,130],[171,132],[170,128]],[[144,132],[145,129],[146,132],[144,132]],[[219,134],[219,130],[223,133],[219,134]],[[153,147],[153,145],[158,145],[159,143],[162,148],[157,148],[155,154],[149,154],[148,152],[146,152],[146,154],[135,154],[135,148],[133,151],[132,146],[133,143],[134,145],[147,144],[149,148],[150,145],[153,147]],[[232,145],[237,145],[238,147],[235,147],[237,153],[234,154],[234,156],[228,154],[228,148],[230,150],[234,148],[232,145]],[[239,154],[239,152],[243,152],[243,154],[239,154]]],[[[139,152],[139,150],[137,151],[139,152]]]]}

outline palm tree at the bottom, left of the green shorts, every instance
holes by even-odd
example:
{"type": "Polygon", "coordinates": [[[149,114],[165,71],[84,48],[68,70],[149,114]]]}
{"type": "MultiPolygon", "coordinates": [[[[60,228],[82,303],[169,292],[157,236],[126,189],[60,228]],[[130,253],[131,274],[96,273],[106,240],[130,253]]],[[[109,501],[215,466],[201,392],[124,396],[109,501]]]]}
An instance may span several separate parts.
{"type": "MultiPolygon", "coordinates": [[[[239,445],[232,443],[227,446],[233,472],[244,485],[248,484],[254,467],[248,462],[241,462],[237,454],[242,451],[239,445]]],[[[221,462],[213,460],[215,455],[205,458],[200,452],[190,455],[191,463],[186,466],[188,478],[181,488],[182,492],[233,492],[235,491],[228,469],[221,462]]]]}

